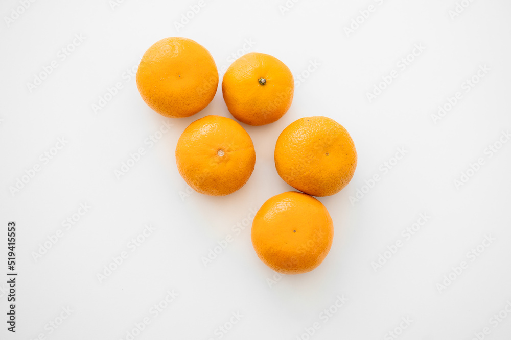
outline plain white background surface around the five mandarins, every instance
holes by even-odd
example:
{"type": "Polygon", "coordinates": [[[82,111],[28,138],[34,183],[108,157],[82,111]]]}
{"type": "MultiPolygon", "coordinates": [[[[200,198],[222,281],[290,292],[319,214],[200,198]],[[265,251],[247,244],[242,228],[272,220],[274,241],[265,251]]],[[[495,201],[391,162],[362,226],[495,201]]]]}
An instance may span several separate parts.
{"type": "Polygon", "coordinates": [[[136,339],[307,339],[303,333],[315,322],[314,339],[389,339],[407,317],[412,322],[399,339],[469,340],[484,327],[487,339],[511,338],[511,313],[502,312],[507,318],[497,327],[492,319],[511,301],[511,143],[491,157],[487,149],[511,128],[511,4],[474,1],[451,18],[454,0],[302,0],[284,14],[284,1],[206,0],[178,31],[174,22],[197,3],[126,0],[112,8],[106,0],[36,1],[12,22],[5,17],[20,3],[0,6],[0,275],[7,272],[8,221],[17,224],[19,273],[15,334],[6,331],[7,285],[0,284],[0,338],[127,339],[146,317],[150,324],[136,339]],[[371,4],[375,11],[347,36],[344,27],[371,4]],[[75,34],[85,40],[64,60],[59,50],[75,34]],[[144,51],[169,36],[210,50],[220,77],[234,60],[229,56],[251,39],[245,51],[281,59],[297,80],[282,119],[242,124],[257,161],[247,184],[227,197],[184,195],[174,158],[192,121],[231,117],[221,88],[197,115],[166,119],[129,79],[127,70],[136,69],[144,51]],[[403,70],[398,63],[414,44],[425,50],[403,70]],[[30,91],[27,83],[52,61],[57,68],[30,91]],[[311,62],[320,66],[307,74],[311,62]],[[466,92],[463,82],[481,65],[490,71],[466,92]],[[366,93],[392,70],[397,78],[369,102],[366,93]],[[95,113],[92,105],[117,82],[123,88],[95,113]],[[438,106],[457,91],[461,99],[435,123],[438,106]],[[346,127],[358,167],[345,189],[320,198],[335,227],[326,260],[310,273],[278,279],[255,255],[250,225],[239,234],[233,226],[292,190],[276,173],[275,141],[292,121],[313,115],[346,127]],[[173,126],[151,147],[145,140],[164,121],[173,126]],[[40,155],[62,137],[68,142],[45,163],[40,155]],[[141,147],[145,155],[118,179],[114,171],[141,147]],[[405,156],[384,173],[381,165],[398,148],[405,156]],[[456,188],[454,180],[479,158],[479,171],[456,188]],[[40,171],[12,194],[9,188],[35,165],[40,171]],[[381,180],[352,204],[350,196],[375,174],[381,180]],[[62,221],[80,203],[90,209],[65,229],[62,221]],[[406,240],[402,231],[421,213],[431,218],[406,240]],[[128,243],[146,224],[155,230],[132,252],[128,243]],[[34,259],[58,229],[63,236],[34,259]],[[202,257],[229,234],[234,241],[205,267],[202,257]],[[495,241],[471,260],[467,253],[485,235],[495,241]],[[371,262],[396,240],[403,246],[375,271],[371,262]],[[128,257],[100,282],[97,274],[123,251],[128,257]],[[463,260],[468,268],[439,288],[463,260]],[[152,306],[172,290],[178,296],[155,317],[152,306]],[[320,313],[338,295],[347,302],[324,322],[320,313]],[[71,315],[50,326],[66,307],[71,315]],[[222,333],[236,312],[241,320],[222,333]]]}

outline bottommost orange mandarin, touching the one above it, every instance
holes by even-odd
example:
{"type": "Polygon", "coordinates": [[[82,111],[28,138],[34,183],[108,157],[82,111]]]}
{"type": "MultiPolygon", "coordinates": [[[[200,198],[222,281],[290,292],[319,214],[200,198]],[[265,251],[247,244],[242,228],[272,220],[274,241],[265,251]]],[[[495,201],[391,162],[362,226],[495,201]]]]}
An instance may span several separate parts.
{"type": "Polygon", "coordinates": [[[332,246],[334,227],[327,208],[304,193],[273,196],[255,214],[252,245],[259,258],[282,274],[310,272],[332,246]]]}

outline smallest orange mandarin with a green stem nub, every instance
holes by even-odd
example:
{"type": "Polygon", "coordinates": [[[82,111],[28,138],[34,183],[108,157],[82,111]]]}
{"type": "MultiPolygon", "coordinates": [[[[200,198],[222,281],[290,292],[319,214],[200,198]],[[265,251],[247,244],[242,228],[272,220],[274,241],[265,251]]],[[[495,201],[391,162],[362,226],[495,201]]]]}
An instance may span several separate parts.
{"type": "Polygon", "coordinates": [[[229,66],[222,80],[222,93],[234,118],[248,125],[264,125],[288,111],[294,79],[282,61],[252,52],[229,66]]]}

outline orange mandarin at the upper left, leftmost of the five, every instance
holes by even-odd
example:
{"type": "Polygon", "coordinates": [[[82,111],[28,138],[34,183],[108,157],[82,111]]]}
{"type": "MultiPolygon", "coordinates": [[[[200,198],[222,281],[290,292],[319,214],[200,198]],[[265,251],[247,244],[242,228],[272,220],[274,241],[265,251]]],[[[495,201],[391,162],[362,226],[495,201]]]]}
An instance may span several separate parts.
{"type": "Polygon", "coordinates": [[[211,54],[193,40],[161,39],[144,53],[136,85],[151,109],[166,117],[189,117],[209,104],[218,88],[211,54]]]}

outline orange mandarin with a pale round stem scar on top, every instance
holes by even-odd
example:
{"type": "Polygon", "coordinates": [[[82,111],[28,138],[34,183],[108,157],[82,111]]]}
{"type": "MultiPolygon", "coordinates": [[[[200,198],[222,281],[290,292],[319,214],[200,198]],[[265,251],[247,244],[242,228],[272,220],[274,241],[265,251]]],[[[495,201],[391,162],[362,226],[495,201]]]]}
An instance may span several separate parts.
{"type": "Polygon", "coordinates": [[[254,169],[255,151],[250,136],[236,121],[206,116],[179,137],[176,164],[195,191],[224,196],[245,185],[254,169]]]}

